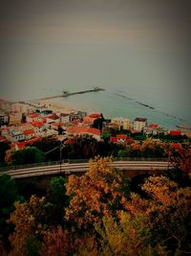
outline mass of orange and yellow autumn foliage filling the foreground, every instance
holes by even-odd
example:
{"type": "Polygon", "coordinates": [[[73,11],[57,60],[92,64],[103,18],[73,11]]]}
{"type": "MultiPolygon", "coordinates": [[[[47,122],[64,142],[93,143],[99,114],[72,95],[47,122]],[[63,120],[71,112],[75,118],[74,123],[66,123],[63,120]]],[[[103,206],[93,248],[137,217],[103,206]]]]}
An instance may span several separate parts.
{"type": "MultiPolygon", "coordinates": [[[[176,168],[183,173],[189,170],[184,162],[189,153],[182,151],[176,158],[181,159],[176,168]]],[[[85,175],[69,176],[66,195],[62,177],[53,180],[50,196],[15,203],[9,220],[14,225],[10,255],[188,255],[190,187],[170,175],[151,175],[141,185],[144,193],[138,195],[112,164],[112,158],[96,157],[85,175]],[[53,204],[63,216],[55,215],[53,204]],[[55,216],[63,219],[55,221],[55,216]]]]}

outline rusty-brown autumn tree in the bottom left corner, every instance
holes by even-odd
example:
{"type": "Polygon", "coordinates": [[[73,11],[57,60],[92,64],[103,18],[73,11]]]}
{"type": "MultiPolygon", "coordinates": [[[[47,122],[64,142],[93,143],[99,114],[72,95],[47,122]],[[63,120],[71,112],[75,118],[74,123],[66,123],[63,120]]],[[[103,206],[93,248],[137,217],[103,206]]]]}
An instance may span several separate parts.
{"type": "Polygon", "coordinates": [[[46,198],[32,196],[29,202],[14,204],[15,210],[8,221],[14,224],[14,232],[10,235],[11,252],[9,255],[38,255],[40,241],[48,228],[52,214],[46,198]]]}

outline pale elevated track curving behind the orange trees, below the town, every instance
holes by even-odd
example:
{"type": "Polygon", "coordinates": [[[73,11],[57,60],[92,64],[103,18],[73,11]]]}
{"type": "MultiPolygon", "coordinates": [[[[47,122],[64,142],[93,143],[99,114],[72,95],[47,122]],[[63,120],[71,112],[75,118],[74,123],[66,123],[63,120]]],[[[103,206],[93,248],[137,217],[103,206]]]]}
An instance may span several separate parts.
{"type": "MultiPolygon", "coordinates": [[[[168,170],[170,167],[167,161],[115,161],[112,166],[118,170],[126,171],[155,171],[168,170]]],[[[58,175],[58,174],[77,174],[87,172],[89,169],[88,163],[63,163],[38,166],[24,169],[14,169],[1,172],[0,175],[11,175],[13,178],[25,178],[40,175],[58,175]]]]}

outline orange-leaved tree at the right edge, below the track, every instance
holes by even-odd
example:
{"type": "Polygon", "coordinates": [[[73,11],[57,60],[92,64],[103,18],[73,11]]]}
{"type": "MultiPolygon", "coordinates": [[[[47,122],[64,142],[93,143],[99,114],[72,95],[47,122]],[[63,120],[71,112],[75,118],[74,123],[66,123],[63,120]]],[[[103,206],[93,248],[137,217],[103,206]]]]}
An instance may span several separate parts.
{"type": "Polygon", "coordinates": [[[165,176],[150,176],[142,185],[147,198],[131,194],[131,201],[124,207],[131,214],[148,216],[148,227],[152,233],[152,245],[161,244],[172,255],[191,251],[191,190],[180,188],[165,176]]]}

